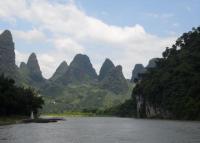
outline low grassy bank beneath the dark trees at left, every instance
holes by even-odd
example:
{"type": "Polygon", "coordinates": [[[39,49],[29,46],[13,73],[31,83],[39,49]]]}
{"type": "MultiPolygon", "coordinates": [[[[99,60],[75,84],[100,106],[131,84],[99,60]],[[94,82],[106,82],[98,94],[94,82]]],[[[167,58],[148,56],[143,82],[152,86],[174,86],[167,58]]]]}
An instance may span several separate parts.
{"type": "Polygon", "coordinates": [[[0,126],[21,123],[22,120],[27,119],[25,116],[7,116],[0,117],[0,126]]]}

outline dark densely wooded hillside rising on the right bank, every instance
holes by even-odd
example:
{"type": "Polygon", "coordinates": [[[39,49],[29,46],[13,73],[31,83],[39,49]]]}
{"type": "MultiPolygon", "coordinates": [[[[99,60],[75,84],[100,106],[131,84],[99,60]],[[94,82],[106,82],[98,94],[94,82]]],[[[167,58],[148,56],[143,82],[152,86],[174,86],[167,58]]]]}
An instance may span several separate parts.
{"type": "Polygon", "coordinates": [[[157,66],[149,68],[134,88],[135,97],[144,99],[144,117],[148,104],[163,111],[159,116],[200,119],[200,27],[166,48],[157,66]]]}

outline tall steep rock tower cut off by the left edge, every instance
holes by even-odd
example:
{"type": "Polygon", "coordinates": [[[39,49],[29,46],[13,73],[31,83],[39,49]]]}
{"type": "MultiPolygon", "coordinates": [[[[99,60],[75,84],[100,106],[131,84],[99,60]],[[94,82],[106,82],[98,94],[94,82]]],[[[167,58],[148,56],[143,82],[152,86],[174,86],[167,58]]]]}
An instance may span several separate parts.
{"type": "Polygon", "coordinates": [[[12,78],[16,78],[17,74],[14,42],[8,30],[0,35],[0,73],[12,78]]]}

